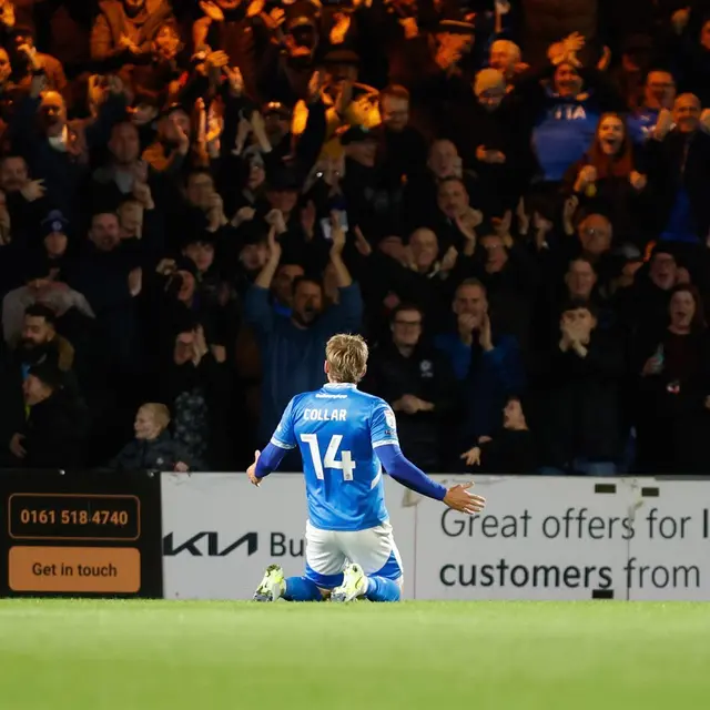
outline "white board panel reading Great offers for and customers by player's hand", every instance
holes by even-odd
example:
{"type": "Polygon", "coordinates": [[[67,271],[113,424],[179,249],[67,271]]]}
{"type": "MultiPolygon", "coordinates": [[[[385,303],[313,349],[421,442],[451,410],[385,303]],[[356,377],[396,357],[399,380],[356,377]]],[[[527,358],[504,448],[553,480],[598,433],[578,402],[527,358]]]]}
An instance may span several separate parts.
{"type": "Polygon", "coordinates": [[[487,499],[481,515],[419,506],[417,599],[625,598],[628,488],[599,478],[474,480],[487,499]]]}

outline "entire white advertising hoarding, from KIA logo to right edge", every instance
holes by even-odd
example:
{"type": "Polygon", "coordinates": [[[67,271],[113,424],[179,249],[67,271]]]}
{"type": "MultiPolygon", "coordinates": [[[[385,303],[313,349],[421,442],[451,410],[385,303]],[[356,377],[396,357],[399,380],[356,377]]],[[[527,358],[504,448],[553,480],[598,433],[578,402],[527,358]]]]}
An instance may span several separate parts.
{"type": "MultiPolygon", "coordinates": [[[[385,477],[404,598],[710,600],[710,481],[474,479],[488,505],[469,517],[385,477]]],[[[302,475],[163,474],[162,515],[166,598],[250,599],[273,562],[303,574],[302,475]]]]}

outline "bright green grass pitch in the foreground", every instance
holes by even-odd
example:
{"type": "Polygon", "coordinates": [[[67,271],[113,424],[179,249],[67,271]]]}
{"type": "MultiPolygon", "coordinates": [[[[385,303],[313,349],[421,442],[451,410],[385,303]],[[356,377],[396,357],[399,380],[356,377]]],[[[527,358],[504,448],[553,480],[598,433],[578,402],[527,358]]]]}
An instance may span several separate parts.
{"type": "Polygon", "coordinates": [[[0,600],[2,710],[710,707],[710,605],[0,600]]]}

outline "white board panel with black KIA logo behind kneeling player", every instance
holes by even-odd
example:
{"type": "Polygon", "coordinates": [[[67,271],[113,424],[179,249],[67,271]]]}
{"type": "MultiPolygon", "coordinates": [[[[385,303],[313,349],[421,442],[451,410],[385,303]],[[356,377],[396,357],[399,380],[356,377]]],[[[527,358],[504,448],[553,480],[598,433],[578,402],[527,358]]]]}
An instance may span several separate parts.
{"type": "MultiPolygon", "coordinates": [[[[303,574],[302,475],[274,474],[255,488],[244,474],[163,474],[161,487],[165,598],[251,599],[273,562],[286,576],[303,574]]],[[[414,508],[394,507],[398,515],[393,511],[392,523],[407,574],[414,508]]]]}

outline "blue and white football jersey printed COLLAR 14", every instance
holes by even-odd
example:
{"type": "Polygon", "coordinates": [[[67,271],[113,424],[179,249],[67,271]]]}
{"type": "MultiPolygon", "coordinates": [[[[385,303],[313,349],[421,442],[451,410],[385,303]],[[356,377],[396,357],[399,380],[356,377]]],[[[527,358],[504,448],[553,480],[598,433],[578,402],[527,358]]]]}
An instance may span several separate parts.
{"type": "Polygon", "coordinates": [[[314,527],[364,530],[388,519],[376,448],[399,442],[384,399],[341,383],[296,395],[271,443],[301,448],[314,527]]]}

